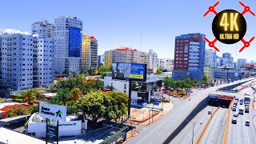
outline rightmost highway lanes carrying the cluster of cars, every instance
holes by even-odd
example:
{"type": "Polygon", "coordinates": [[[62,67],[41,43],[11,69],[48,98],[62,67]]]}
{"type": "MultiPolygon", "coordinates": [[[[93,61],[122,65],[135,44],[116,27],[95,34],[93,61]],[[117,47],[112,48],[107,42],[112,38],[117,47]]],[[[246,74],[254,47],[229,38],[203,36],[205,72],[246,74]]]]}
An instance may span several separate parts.
{"type": "MultiPolygon", "coordinates": [[[[244,94],[250,94],[251,99],[254,98],[253,96],[254,90],[252,90],[250,87],[246,88],[245,90],[242,90],[240,96],[238,97],[239,100],[244,97],[244,94]]],[[[229,144],[240,144],[240,143],[246,143],[246,144],[254,144],[256,143],[256,129],[253,122],[253,117],[256,115],[256,110],[253,109],[252,101],[250,101],[250,111],[248,113],[239,114],[238,115],[238,123],[232,124],[231,120],[234,118],[233,114],[234,111],[231,111],[230,115],[230,126],[229,126],[229,134],[227,138],[227,143],[229,144]],[[245,126],[246,120],[250,120],[250,126],[245,126]]],[[[238,106],[241,106],[238,103],[238,106]]],[[[242,104],[244,106],[244,104],[242,104]]],[[[238,108],[237,108],[238,112],[238,108]]]]}

